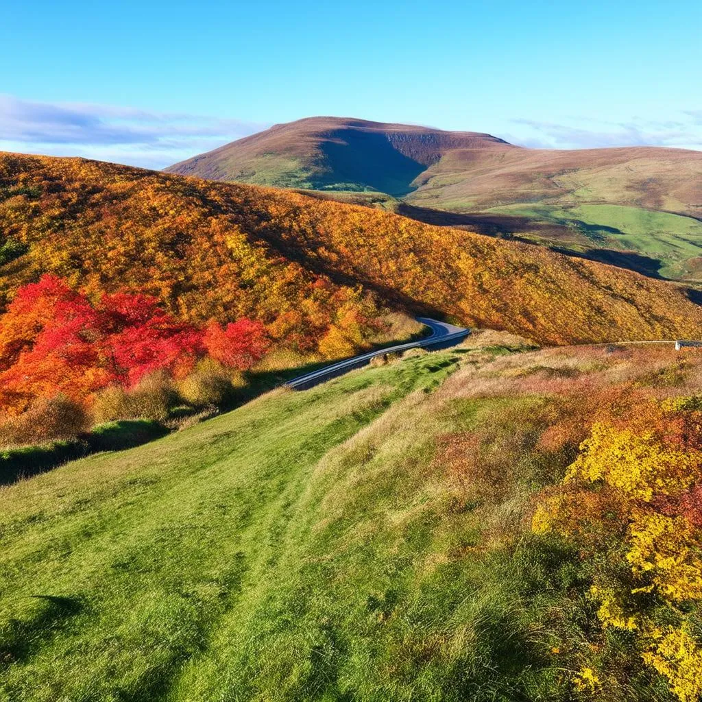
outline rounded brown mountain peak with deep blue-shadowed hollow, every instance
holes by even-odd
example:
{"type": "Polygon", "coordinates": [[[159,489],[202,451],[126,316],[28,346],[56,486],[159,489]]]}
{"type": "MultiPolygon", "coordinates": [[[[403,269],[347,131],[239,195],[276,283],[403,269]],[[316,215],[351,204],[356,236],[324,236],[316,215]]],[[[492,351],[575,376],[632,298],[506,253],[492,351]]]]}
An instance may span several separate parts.
{"type": "Polygon", "coordinates": [[[276,124],[166,168],[168,173],[312,190],[371,190],[400,197],[444,155],[508,146],[489,134],[364,119],[310,117],[276,124]]]}

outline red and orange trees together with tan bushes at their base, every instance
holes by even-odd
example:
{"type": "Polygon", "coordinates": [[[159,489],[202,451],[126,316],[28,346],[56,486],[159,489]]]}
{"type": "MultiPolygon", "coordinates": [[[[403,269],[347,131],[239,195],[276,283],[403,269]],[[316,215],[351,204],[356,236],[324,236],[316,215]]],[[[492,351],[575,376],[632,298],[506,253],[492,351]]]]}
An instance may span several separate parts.
{"type": "Polygon", "coordinates": [[[196,326],[142,293],[92,303],[45,275],[0,318],[0,442],[71,438],[91,412],[165,420],[178,404],[220,406],[269,345],[260,322],[196,326]]]}

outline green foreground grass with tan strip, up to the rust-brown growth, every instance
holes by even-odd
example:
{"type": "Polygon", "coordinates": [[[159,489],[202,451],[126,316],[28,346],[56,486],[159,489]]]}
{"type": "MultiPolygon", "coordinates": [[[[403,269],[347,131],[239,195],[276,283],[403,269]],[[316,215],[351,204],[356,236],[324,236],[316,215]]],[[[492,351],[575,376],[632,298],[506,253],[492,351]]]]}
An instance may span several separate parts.
{"type": "Polygon", "coordinates": [[[461,699],[536,684],[510,588],[452,557],[478,524],[429,470],[437,432],[475,413],[433,411],[460,359],[274,392],[4,489],[0,696],[461,699]]]}

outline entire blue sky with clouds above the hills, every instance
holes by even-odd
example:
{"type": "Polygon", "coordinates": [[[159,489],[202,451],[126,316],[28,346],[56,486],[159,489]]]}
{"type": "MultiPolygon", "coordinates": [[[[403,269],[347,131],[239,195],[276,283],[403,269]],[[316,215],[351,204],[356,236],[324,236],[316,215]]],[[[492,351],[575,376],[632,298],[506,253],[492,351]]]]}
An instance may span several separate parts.
{"type": "Polygon", "coordinates": [[[8,2],[0,150],[161,168],[316,114],[702,150],[702,3],[8,2]]]}

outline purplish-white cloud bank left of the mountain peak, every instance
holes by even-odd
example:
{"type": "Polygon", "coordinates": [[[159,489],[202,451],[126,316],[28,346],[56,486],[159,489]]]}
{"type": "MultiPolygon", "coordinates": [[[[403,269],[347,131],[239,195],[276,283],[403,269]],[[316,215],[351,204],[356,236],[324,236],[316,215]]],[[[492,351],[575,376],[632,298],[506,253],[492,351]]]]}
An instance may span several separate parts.
{"type": "Polygon", "coordinates": [[[116,105],[0,95],[0,150],[163,168],[269,126],[116,105]]]}

